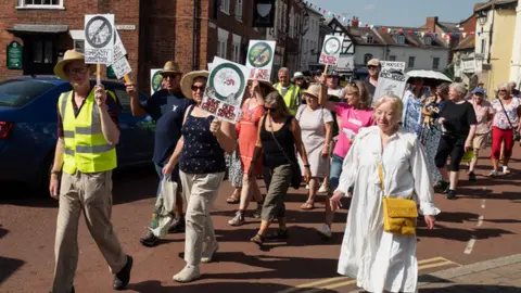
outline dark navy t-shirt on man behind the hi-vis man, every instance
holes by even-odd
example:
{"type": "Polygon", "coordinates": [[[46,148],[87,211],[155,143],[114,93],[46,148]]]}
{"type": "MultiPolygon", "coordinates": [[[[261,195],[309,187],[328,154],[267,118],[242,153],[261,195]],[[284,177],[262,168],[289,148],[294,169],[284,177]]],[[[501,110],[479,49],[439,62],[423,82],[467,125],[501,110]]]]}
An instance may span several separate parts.
{"type": "Polygon", "coordinates": [[[156,91],[141,106],[156,122],[154,163],[164,166],[170,160],[177,141],[181,138],[182,119],[187,109],[193,104],[182,94],[173,94],[163,89],[156,91]]]}

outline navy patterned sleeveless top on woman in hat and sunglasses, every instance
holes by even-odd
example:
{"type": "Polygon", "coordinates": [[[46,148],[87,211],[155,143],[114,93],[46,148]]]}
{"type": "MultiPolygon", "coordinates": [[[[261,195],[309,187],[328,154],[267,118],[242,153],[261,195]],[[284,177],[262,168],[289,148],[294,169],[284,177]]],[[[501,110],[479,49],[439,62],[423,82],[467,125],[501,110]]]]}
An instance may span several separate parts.
{"type": "Polygon", "coordinates": [[[181,128],[182,145],[179,169],[186,174],[211,174],[226,170],[225,151],[209,131],[214,116],[194,117],[191,106],[181,128]]]}

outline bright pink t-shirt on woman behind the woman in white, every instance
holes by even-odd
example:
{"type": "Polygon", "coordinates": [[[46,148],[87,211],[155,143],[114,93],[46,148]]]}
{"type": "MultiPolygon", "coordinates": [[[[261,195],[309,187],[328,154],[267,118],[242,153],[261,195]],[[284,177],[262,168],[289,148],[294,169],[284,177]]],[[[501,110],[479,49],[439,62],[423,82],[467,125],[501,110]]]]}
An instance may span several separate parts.
{"type": "Polygon", "coordinates": [[[350,138],[345,132],[358,133],[364,127],[374,125],[372,110],[357,110],[347,103],[338,103],[334,110],[342,122],[339,141],[334,146],[333,154],[345,157],[351,148],[350,138]],[[350,131],[351,130],[351,131],[350,131]]]}

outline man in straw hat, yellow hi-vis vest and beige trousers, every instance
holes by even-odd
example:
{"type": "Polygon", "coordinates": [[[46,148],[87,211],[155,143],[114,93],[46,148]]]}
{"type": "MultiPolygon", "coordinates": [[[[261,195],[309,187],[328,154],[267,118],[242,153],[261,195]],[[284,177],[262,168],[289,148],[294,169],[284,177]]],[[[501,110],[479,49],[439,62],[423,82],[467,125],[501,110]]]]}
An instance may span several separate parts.
{"type": "Polygon", "coordinates": [[[85,213],[87,228],[114,273],[113,289],[123,290],[130,280],[132,257],[123,252],[111,224],[112,170],[119,141],[117,101],[102,85],[91,86],[93,68],[84,54],[65,52],[54,74],[68,80],[73,90],[60,95],[59,139],[49,191],[59,200],[54,244],[52,293],[74,292],[78,263],[78,221],[85,213]],[[59,192],[59,176],[62,174],[59,192]]]}

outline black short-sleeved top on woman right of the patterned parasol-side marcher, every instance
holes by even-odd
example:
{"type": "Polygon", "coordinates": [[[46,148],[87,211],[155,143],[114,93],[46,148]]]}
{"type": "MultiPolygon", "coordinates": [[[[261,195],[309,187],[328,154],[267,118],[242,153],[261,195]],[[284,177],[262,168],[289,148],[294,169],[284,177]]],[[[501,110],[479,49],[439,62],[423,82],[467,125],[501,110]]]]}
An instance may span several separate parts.
{"type": "Polygon", "coordinates": [[[444,133],[467,137],[470,126],[478,123],[475,118],[474,107],[471,103],[465,101],[460,104],[453,101],[446,101],[443,104],[440,117],[445,118],[443,124],[444,133]]]}

